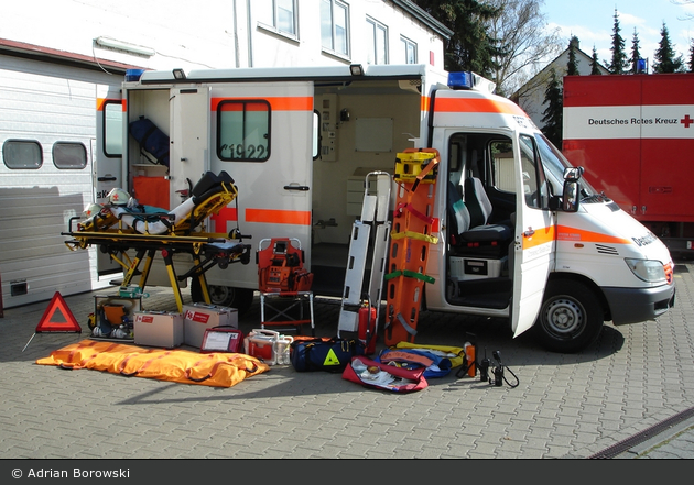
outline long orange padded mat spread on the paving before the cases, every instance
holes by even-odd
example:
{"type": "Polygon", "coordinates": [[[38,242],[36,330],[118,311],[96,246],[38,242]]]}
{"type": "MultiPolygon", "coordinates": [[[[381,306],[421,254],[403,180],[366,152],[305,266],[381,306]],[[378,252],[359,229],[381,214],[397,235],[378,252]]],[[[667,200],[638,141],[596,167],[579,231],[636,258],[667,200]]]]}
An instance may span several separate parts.
{"type": "Polygon", "coordinates": [[[96,340],[83,340],[51,352],[36,364],[216,387],[231,387],[270,370],[260,360],[240,353],[200,354],[183,349],[149,349],[96,340]]]}

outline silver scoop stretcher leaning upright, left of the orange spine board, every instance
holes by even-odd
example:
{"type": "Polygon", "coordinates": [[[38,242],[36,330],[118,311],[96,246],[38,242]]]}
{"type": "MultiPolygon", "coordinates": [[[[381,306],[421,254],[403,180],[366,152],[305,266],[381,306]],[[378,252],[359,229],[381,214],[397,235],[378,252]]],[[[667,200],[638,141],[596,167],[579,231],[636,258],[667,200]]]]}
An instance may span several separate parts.
{"type": "MultiPolygon", "coordinates": [[[[391,176],[387,172],[371,172],[366,176],[361,218],[355,221],[351,229],[345,289],[337,329],[338,337],[343,331],[359,331],[359,310],[366,306],[368,307],[368,317],[373,315],[371,307],[376,309],[373,321],[367,323],[367,329],[372,327],[373,333],[359,335],[359,338],[365,337],[369,341],[376,339],[376,323],[380,316],[383,273],[391,227],[388,220],[391,184],[391,176]],[[369,287],[365,293],[362,290],[364,276],[369,261],[371,262],[369,287]]],[[[366,331],[368,333],[368,330],[366,331]]]]}

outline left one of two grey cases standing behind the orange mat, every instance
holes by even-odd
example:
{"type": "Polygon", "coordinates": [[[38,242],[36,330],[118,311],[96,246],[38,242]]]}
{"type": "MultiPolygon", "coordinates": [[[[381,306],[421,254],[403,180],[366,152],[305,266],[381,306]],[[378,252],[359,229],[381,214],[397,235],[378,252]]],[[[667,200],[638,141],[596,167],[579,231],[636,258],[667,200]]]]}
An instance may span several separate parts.
{"type": "Polygon", "coordinates": [[[183,315],[137,311],[132,333],[135,345],[173,349],[183,343],[183,315]]]}

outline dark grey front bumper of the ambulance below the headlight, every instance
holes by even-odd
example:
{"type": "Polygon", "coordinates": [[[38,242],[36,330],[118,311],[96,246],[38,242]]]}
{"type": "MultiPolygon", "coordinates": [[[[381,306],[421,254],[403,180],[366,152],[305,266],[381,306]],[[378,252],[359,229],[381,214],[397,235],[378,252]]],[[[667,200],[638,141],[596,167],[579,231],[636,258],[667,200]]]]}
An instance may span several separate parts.
{"type": "Polygon", "coordinates": [[[604,291],[616,326],[654,320],[674,307],[674,284],[655,288],[604,288],[604,291]]]}

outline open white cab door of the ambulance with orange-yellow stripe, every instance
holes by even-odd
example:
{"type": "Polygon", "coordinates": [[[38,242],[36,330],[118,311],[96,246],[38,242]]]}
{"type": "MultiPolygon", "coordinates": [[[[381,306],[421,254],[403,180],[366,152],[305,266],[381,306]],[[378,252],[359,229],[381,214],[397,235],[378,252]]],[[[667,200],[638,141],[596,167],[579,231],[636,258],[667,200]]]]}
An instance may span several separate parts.
{"type": "Polygon", "coordinates": [[[513,337],[530,329],[542,306],[547,275],[555,258],[555,214],[549,209],[550,184],[535,140],[517,137],[517,210],[513,241],[513,337]]]}

